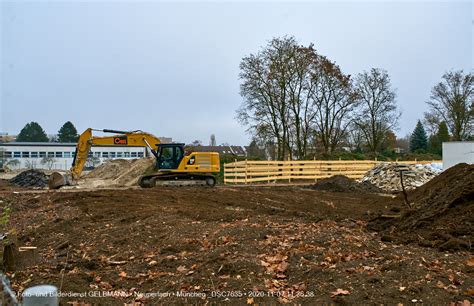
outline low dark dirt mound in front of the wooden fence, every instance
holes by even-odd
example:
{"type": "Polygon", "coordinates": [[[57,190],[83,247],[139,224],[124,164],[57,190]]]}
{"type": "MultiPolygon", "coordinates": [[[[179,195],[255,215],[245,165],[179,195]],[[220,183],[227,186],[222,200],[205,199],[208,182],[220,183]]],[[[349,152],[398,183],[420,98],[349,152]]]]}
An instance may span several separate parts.
{"type": "Polygon", "coordinates": [[[310,187],[315,190],[325,190],[332,192],[383,192],[380,188],[368,183],[359,183],[344,175],[335,175],[329,178],[322,179],[310,187]]]}

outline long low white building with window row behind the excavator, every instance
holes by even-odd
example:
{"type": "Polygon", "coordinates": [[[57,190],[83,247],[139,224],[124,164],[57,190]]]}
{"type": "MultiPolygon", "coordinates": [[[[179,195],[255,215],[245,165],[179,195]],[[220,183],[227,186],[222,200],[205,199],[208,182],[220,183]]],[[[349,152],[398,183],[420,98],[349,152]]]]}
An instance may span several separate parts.
{"type": "MultiPolygon", "coordinates": [[[[5,142],[0,143],[3,164],[13,169],[71,168],[76,151],[75,143],[5,142]],[[13,162],[12,162],[13,161],[13,162]]],[[[132,146],[93,146],[86,167],[98,166],[108,159],[133,159],[149,156],[147,148],[132,146]]]]}

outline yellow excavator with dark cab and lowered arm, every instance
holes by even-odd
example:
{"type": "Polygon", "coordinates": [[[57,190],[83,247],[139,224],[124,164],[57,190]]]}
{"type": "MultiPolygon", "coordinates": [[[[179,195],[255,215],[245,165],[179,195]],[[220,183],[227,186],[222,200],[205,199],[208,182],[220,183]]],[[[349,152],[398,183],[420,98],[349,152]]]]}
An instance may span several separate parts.
{"type": "Polygon", "coordinates": [[[81,176],[92,146],[147,147],[156,158],[155,172],[139,179],[139,185],[150,188],[156,181],[198,180],[208,186],[216,184],[215,173],[220,171],[219,153],[185,153],[183,143],[161,143],[160,139],[142,131],[96,130],[88,128],[77,141],[72,167],[66,175],[54,172],[49,178],[49,188],[58,189],[74,185],[81,176]],[[113,133],[113,136],[93,136],[92,131],[113,133]]]}

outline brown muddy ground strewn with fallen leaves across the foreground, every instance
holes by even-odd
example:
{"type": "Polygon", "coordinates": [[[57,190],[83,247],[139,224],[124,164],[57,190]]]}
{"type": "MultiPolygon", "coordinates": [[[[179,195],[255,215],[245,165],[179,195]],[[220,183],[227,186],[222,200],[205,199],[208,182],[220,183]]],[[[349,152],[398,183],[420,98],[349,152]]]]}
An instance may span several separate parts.
{"type": "Polygon", "coordinates": [[[0,183],[36,265],[17,292],[54,284],[62,303],[471,301],[471,250],[382,242],[369,220],[400,198],[302,188],[25,190],[0,183]],[[101,294],[115,296],[93,297],[101,294]],[[185,297],[187,296],[187,297],[185,297]]]}

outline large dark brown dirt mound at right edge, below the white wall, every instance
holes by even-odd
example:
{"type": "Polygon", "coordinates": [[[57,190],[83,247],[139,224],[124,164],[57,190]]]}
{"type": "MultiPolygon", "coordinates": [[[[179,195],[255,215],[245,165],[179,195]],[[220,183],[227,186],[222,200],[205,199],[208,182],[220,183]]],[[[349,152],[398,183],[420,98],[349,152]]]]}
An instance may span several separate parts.
{"type": "Polygon", "coordinates": [[[369,228],[389,235],[387,239],[442,250],[472,250],[474,165],[458,164],[412,191],[408,198],[413,209],[400,218],[379,217],[369,228]]]}

